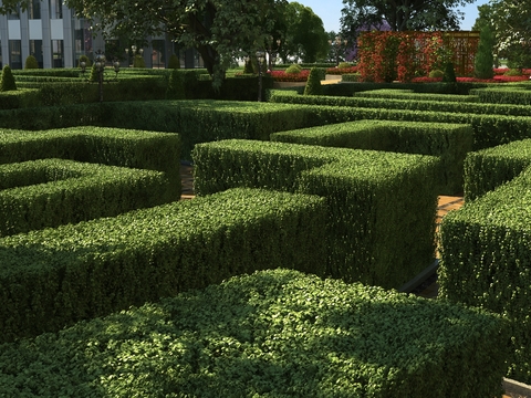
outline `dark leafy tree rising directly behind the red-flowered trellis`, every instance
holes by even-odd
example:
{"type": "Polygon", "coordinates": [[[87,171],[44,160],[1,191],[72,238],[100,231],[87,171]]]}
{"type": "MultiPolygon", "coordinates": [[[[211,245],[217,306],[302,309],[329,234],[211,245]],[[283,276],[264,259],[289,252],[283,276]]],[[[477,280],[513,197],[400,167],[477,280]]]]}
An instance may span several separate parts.
{"type": "Polygon", "coordinates": [[[475,0],[343,0],[342,35],[350,41],[363,30],[458,30],[464,13],[456,7],[475,0]]]}

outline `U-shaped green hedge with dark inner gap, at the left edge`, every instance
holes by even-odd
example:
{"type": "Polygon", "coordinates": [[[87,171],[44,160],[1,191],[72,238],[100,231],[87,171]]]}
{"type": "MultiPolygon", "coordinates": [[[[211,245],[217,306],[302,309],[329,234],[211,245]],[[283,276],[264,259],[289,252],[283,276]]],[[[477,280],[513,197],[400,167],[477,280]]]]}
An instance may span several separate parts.
{"type": "Polygon", "coordinates": [[[0,165],[0,237],[175,200],[163,172],[44,159],[0,165]]]}

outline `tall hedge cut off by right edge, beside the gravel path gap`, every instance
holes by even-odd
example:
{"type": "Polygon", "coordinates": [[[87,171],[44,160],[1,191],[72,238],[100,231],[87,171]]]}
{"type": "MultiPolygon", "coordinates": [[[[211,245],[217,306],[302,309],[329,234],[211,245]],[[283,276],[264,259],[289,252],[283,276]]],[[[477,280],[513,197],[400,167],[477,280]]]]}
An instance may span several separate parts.
{"type": "Polygon", "coordinates": [[[531,384],[531,169],[448,213],[440,226],[439,296],[509,322],[507,376],[531,384]]]}

